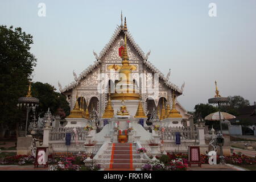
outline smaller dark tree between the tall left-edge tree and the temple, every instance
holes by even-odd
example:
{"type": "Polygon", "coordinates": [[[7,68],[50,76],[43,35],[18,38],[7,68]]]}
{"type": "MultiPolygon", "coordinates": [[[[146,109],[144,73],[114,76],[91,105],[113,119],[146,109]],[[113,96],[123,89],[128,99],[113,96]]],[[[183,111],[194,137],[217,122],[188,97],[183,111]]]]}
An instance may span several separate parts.
{"type": "Polygon", "coordinates": [[[35,82],[31,84],[32,96],[39,98],[38,114],[40,117],[44,116],[44,113],[48,110],[48,107],[52,114],[60,114],[60,109],[63,109],[65,115],[69,114],[69,104],[61,93],[55,92],[56,88],[48,83],[35,82]]]}

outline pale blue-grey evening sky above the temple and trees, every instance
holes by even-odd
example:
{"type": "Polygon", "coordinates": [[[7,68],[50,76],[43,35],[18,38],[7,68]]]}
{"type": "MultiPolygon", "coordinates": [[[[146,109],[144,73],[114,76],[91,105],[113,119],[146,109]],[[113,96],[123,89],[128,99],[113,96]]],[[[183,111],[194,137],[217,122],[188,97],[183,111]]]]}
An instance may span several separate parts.
{"type": "MultiPolygon", "coordinates": [[[[181,86],[178,100],[188,111],[214,96],[240,95],[256,101],[256,1],[0,1],[0,24],[22,27],[34,38],[38,59],[33,81],[57,89],[93,64],[109,41],[121,10],[148,60],[181,86]],[[38,16],[38,5],[46,16],[38,16]],[[208,14],[217,5],[217,17],[208,14]]],[[[58,89],[59,90],[59,89],[58,89]]]]}

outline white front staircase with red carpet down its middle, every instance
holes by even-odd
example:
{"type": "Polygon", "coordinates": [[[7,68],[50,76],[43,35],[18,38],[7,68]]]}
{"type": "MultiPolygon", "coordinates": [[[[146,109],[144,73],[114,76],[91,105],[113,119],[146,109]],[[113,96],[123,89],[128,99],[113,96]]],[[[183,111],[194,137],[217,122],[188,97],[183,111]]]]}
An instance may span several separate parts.
{"type": "Polygon", "coordinates": [[[97,160],[101,168],[116,170],[141,168],[145,163],[147,159],[141,159],[133,143],[110,143],[97,160]]]}

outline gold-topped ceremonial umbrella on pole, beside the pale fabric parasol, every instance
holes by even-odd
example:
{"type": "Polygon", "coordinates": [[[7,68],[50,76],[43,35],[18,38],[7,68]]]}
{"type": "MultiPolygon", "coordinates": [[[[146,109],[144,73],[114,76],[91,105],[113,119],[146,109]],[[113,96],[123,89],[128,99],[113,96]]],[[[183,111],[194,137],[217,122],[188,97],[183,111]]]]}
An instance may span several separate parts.
{"type": "Polygon", "coordinates": [[[215,93],[216,95],[213,98],[209,98],[208,102],[209,104],[218,104],[218,115],[220,118],[220,132],[218,133],[217,136],[217,143],[218,146],[220,146],[220,163],[221,164],[225,164],[225,160],[224,160],[224,156],[223,156],[223,150],[222,150],[222,146],[224,144],[224,138],[223,138],[223,134],[222,134],[222,124],[221,124],[221,113],[220,113],[220,104],[221,103],[227,103],[228,97],[221,97],[217,88],[217,82],[215,81],[215,93]]]}

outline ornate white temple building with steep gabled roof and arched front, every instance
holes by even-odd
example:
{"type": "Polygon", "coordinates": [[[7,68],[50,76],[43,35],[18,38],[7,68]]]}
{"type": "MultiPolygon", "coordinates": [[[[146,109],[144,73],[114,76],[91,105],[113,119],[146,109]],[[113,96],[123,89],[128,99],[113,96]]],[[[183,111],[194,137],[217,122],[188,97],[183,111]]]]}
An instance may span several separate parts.
{"type": "Polygon", "coordinates": [[[79,76],[73,72],[73,82],[64,88],[59,83],[60,92],[71,106],[71,115],[81,111],[82,117],[88,118],[95,109],[100,118],[114,118],[126,109],[131,118],[146,118],[155,109],[159,111],[160,120],[177,116],[173,111],[177,111],[179,117],[189,118],[177,101],[184,85],[179,88],[150,63],[150,52],[145,54],[135,42],[126,18],[124,23],[121,18],[121,24],[115,28],[100,54],[93,53],[93,64],[79,76]],[[157,85],[154,84],[155,76],[158,77],[157,85]],[[152,89],[157,89],[157,92],[152,92],[152,89]]]}

